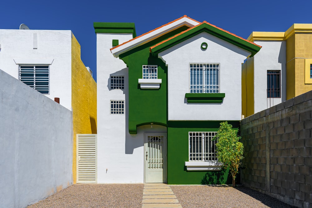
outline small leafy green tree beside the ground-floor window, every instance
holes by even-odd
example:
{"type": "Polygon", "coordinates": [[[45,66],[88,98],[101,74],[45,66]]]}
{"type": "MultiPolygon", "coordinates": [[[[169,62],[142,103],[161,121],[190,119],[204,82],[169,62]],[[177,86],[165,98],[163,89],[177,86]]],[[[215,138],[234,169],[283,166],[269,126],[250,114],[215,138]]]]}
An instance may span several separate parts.
{"type": "Polygon", "coordinates": [[[237,135],[238,130],[232,129],[232,125],[227,121],[220,123],[217,135],[213,138],[217,139],[217,158],[222,162],[224,167],[229,167],[233,178],[232,185],[235,187],[235,178],[240,166],[240,160],[243,156],[243,144],[239,142],[237,135]]]}

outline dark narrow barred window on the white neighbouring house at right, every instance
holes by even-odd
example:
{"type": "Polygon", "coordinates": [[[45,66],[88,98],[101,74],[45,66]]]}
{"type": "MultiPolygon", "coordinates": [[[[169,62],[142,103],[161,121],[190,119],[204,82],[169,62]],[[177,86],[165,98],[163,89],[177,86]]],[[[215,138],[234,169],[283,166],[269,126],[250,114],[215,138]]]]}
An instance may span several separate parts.
{"type": "Polygon", "coordinates": [[[267,71],[267,97],[280,98],[280,70],[267,71]]]}

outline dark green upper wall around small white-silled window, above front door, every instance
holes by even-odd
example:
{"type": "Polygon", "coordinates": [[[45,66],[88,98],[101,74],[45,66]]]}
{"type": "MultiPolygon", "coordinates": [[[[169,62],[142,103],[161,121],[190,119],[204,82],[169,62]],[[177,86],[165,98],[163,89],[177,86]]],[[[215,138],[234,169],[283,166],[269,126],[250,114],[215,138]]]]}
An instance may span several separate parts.
{"type": "Polygon", "coordinates": [[[129,133],[136,134],[137,127],[154,123],[167,126],[167,66],[149,52],[149,47],[181,31],[183,26],[153,41],[119,55],[129,67],[129,133]],[[157,65],[158,79],[162,79],[159,89],[140,89],[138,79],[142,79],[142,65],[157,65]]]}

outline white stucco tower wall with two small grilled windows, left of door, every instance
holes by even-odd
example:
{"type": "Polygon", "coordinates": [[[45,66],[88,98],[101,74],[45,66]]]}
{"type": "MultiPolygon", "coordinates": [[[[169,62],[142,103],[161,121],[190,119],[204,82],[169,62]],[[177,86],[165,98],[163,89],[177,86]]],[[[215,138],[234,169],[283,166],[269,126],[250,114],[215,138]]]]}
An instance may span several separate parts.
{"type": "Polygon", "coordinates": [[[110,52],[113,39],[121,44],[132,34],[97,33],[96,37],[97,182],[144,182],[144,138],[130,136],[128,130],[128,68],[110,52]],[[124,75],[124,90],[110,90],[111,75],[124,75]],[[125,100],[125,113],[110,114],[110,100],[125,100]]]}

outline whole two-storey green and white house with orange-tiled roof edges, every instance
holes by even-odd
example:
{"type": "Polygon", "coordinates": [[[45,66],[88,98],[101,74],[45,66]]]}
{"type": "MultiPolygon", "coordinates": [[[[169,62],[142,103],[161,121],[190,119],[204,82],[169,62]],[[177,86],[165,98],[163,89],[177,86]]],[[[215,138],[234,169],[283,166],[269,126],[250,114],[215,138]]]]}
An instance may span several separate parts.
{"type": "Polygon", "coordinates": [[[261,48],[187,16],[136,37],[95,22],[97,182],[225,183],[213,136],[241,120],[241,63],[261,48]]]}

